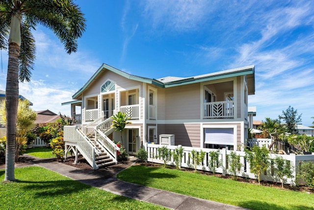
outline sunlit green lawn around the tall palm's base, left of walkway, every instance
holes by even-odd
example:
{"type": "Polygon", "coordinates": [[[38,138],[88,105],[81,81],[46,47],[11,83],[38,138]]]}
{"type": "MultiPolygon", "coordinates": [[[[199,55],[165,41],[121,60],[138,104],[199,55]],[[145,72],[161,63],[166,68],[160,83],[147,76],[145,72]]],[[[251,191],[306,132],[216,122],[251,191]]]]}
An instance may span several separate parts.
{"type": "MultiPolygon", "coordinates": [[[[0,183],[1,210],[163,210],[71,180],[41,167],[15,169],[17,182],[0,183]]],[[[0,180],[4,170],[0,170],[0,180]]]]}

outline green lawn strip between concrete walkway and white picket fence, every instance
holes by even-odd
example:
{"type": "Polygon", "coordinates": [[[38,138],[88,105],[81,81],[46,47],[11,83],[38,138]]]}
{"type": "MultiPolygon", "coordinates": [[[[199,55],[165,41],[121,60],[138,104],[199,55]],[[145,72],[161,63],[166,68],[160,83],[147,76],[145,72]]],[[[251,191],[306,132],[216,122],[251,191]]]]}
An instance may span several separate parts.
{"type": "Polygon", "coordinates": [[[132,166],[117,178],[252,210],[314,210],[314,194],[174,169],[132,166]]]}

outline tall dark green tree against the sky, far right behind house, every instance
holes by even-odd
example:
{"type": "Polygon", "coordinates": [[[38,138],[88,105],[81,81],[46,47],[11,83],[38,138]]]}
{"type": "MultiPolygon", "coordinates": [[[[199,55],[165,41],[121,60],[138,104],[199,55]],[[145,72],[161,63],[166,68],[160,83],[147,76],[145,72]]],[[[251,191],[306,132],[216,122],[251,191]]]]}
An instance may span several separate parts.
{"type": "Polygon", "coordinates": [[[302,114],[298,114],[298,110],[294,110],[293,107],[289,106],[286,111],[283,111],[281,119],[285,120],[288,133],[295,133],[295,128],[298,122],[301,122],[302,114]]]}

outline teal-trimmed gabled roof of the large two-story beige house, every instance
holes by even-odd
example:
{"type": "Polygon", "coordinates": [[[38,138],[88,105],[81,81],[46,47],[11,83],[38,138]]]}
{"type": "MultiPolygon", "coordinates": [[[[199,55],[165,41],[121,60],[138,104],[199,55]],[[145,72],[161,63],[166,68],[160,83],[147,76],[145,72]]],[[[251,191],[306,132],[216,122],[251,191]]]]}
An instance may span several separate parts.
{"type": "Polygon", "coordinates": [[[249,94],[255,93],[255,76],[254,76],[255,66],[254,65],[244,66],[240,68],[234,68],[234,69],[229,69],[229,70],[219,71],[219,72],[214,72],[214,73],[209,73],[209,74],[203,74],[203,75],[198,75],[194,77],[164,77],[160,79],[149,79],[145,77],[139,77],[139,76],[128,74],[126,72],[123,72],[119,69],[116,69],[112,66],[109,66],[103,63],[103,65],[94,73],[94,75],[87,81],[87,83],[85,83],[85,85],[72,96],[72,98],[76,99],[82,93],[82,91],[84,91],[94,80],[97,79],[97,76],[101,72],[106,71],[106,70],[112,71],[127,79],[144,82],[148,84],[153,84],[160,88],[169,88],[169,87],[247,75],[247,82],[248,82],[248,89],[249,89],[248,93],[249,94]]]}

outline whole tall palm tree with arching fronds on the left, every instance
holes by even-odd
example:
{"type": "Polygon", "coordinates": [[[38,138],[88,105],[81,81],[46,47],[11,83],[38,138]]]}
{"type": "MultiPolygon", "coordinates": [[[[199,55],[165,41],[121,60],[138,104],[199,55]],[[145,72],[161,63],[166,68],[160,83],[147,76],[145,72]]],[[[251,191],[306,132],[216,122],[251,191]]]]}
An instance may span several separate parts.
{"type": "Polygon", "coordinates": [[[0,0],[0,49],[8,46],[6,78],[6,155],[4,181],[14,181],[14,151],[19,80],[30,81],[35,60],[31,29],[41,24],[53,31],[68,54],[77,51],[85,19],[72,0],[0,0]]]}

